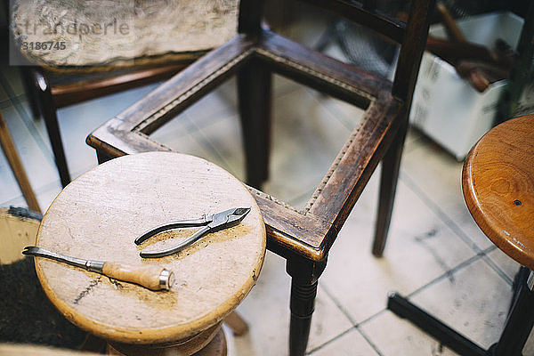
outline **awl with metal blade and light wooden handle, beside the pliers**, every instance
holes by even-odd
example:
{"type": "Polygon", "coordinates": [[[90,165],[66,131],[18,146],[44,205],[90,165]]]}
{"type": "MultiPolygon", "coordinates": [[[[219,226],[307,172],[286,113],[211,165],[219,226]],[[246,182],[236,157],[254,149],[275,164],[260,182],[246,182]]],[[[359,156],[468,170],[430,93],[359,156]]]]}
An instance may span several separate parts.
{"type": "Polygon", "coordinates": [[[147,287],[151,290],[169,290],[174,282],[174,273],[156,265],[129,266],[122,263],[84,260],[67,255],[57,254],[41,247],[28,246],[22,251],[23,255],[33,255],[50,258],[61,263],[68,263],[87,271],[101,273],[112,279],[122,280],[147,287]]]}

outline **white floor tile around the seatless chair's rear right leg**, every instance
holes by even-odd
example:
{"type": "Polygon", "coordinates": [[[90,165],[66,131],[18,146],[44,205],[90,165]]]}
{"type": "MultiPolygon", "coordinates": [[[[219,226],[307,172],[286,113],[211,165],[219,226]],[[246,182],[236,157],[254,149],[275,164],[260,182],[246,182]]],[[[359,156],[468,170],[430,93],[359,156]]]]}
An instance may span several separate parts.
{"type": "Polygon", "coordinates": [[[383,310],[389,291],[414,292],[474,255],[408,186],[399,182],[384,257],[372,256],[376,175],[341,230],[320,279],[355,322],[383,310]]]}

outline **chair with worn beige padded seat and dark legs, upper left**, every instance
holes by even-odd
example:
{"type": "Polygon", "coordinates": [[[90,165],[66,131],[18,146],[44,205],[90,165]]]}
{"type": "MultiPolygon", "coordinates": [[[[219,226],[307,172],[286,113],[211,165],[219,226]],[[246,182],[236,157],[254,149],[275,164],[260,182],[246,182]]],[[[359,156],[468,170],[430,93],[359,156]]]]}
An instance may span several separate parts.
{"type": "Polygon", "coordinates": [[[238,0],[93,3],[12,3],[11,61],[22,64],[32,114],[44,117],[63,187],[71,177],[58,109],[168,79],[237,27],[238,0]]]}

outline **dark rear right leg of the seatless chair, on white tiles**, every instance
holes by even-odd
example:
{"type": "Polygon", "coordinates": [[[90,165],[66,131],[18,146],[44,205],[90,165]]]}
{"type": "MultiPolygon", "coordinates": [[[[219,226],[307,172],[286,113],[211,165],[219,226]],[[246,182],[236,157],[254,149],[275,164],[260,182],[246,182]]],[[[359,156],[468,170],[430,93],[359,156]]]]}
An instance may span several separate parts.
{"type": "Polygon", "coordinates": [[[375,240],[373,242],[373,255],[376,255],[376,257],[381,257],[384,253],[385,241],[392,219],[393,202],[395,191],[397,190],[399,168],[401,166],[402,148],[407,130],[408,122],[401,125],[382,160],[378,214],[376,217],[375,240]]]}

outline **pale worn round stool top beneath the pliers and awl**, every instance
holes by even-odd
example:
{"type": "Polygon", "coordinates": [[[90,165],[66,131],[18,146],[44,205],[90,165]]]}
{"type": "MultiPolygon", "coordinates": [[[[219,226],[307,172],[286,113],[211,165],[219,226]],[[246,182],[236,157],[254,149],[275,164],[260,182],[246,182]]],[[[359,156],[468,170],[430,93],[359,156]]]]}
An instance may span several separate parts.
{"type": "Polygon", "coordinates": [[[37,276],[54,305],[80,328],[125,344],[176,344],[223,320],[248,294],[265,254],[262,214],[247,188],[222,168],[173,152],[116,158],[71,182],[53,201],[37,246],[73,257],[157,264],[174,271],[170,291],[134,284],[36,257],[37,276]],[[155,225],[250,206],[234,227],[207,234],[175,255],[142,259],[139,251],[174,246],[197,230],[155,225]],[[176,238],[176,239],[174,239],[176,238]]]}

